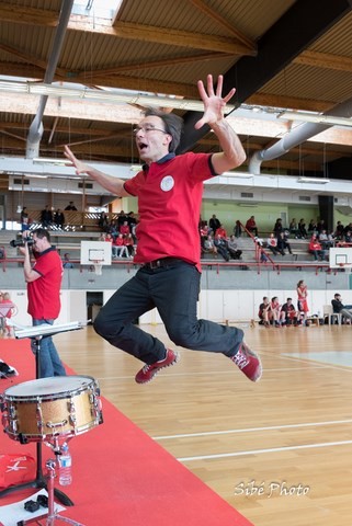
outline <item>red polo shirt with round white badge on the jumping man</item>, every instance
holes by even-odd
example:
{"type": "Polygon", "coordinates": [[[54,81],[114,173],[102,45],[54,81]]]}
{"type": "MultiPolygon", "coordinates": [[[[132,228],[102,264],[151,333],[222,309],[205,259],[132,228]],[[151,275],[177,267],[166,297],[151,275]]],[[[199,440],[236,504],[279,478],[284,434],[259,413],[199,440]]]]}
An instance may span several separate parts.
{"type": "Polygon", "coordinates": [[[138,197],[135,261],[180,258],[200,265],[203,181],[215,175],[207,153],[168,155],[125,182],[138,197]]]}

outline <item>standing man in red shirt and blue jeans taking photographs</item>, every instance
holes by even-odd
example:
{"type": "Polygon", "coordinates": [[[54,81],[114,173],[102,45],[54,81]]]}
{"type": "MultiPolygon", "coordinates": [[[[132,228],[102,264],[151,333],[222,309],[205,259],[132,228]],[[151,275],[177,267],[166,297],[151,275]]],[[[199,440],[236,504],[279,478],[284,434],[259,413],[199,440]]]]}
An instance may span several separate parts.
{"type": "MultiPolygon", "coordinates": [[[[53,324],[60,312],[60,286],[63,279],[63,262],[57,251],[50,244],[50,235],[44,228],[33,231],[33,254],[35,263],[32,266],[30,247],[24,237],[23,272],[27,284],[29,315],[33,325],[53,324]]],[[[37,352],[35,342],[32,350],[37,352]]],[[[66,370],[59,358],[52,336],[43,336],[39,352],[39,377],[65,376],[66,370]]]]}

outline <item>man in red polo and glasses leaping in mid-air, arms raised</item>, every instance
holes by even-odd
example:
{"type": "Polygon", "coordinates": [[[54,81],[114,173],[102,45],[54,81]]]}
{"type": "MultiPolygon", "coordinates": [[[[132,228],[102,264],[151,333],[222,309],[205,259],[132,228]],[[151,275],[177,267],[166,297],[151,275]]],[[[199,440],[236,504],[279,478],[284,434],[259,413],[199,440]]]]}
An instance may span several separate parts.
{"type": "Polygon", "coordinates": [[[133,323],[155,307],[177,345],[223,354],[252,381],[259,380],[262,373],[260,359],[243,342],[241,329],[196,317],[203,182],[239,167],[246,159],[239,138],[224,117],[225,105],[236,90],[231,89],[223,98],[223,77],[218,77],[214,89],[211,75],[206,88],[202,81],[197,87],[204,114],[195,128],[208,125],[222,151],[177,156],[183,122],[173,113],[154,108],[145,112],[135,128],[136,146],[145,165],[128,181],[112,178],[79,161],[68,146],[65,147],[65,155],[77,174],[88,174],[120,197],[138,197],[134,262],[141,267],[112,296],[94,320],[94,329],[102,338],[145,363],[135,377],[138,384],[150,381],[160,369],[179,359],[179,353],[166,348],[160,340],[133,323]],[[188,228],[179,228],[181,224],[188,228]]]}

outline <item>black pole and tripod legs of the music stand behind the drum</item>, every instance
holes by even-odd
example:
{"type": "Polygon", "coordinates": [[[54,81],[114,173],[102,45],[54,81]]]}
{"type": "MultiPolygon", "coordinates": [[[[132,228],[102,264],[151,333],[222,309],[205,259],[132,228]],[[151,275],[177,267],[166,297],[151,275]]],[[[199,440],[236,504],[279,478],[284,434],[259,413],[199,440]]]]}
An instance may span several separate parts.
{"type": "MultiPolygon", "coordinates": [[[[34,336],[33,340],[35,341],[35,373],[36,379],[41,378],[41,335],[34,336]]],[[[25,439],[22,442],[20,437],[21,444],[25,444],[25,439]]],[[[29,488],[37,488],[39,490],[47,489],[47,482],[45,477],[43,476],[42,469],[42,442],[37,442],[36,444],[36,477],[35,480],[31,482],[24,482],[23,484],[11,485],[10,488],[5,488],[4,490],[0,491],[0,499],[13,491],[21,491],[26,490],[29,488]]],[[[54,484],[54,482],[53,482],[54,484]]],[[[60,490],[57,488],[54,489],[55,496],[58,501],[60,501],[65,506],[73,506],[73,502],[60,490]]],[[[77,523],[78,524],[78,523],[77,523]]]]}

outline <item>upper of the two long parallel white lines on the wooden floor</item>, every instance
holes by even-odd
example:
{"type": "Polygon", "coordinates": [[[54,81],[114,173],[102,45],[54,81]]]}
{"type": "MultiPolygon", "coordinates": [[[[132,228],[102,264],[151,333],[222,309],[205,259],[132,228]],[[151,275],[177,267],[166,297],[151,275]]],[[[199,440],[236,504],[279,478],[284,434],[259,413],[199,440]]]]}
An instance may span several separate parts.
{"type": "Polygon", "coordinates": [[[213,435],[230,435],[235,433],[257,433],[260,431],[276,431],[276,430],[294,430],[299,427],[318,427],[322,425],[337,425],[337,424],[351,424],[352,419],[349,420],[329,420],[326,422],[306,422],[302,424],[286,424],[286,425],[268,425],[264,427],[243,427],[240,430],[225,430],[225,431],[205,431],[200,433],[183,433],[179,435],[161,435],[154,436],[154,441],[168,441],[174,438],[193,438],[198,436],[213,436],[213,435]]]}

